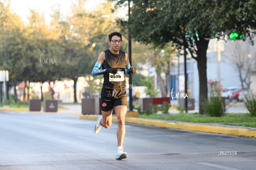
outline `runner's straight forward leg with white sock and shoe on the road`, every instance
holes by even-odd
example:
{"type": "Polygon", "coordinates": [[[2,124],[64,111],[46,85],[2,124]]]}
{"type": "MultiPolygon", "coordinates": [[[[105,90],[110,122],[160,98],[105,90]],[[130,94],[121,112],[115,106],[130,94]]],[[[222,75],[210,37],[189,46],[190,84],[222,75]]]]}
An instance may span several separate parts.
{"type": "Polygon", "coordinates": [[[117,130],[116,130],[116,136],[117,136],[117,156],[116,159],[125,159],[127,158],[127,153],[124,153],[123,147],[124,147],[124,137],[126,135],[126,125],[125,125],[125,119],[126,119],[126,112],[127,112],[127,106],[115,106],[114,112],[116,113],[117,118],[117,130]]]}

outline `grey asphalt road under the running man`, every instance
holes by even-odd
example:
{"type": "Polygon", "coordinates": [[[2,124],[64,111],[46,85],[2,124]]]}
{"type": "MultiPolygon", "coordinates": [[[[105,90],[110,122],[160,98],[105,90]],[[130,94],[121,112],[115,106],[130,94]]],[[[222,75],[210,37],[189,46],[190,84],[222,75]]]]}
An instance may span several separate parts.
{"type": "Polygon", "coordinates": [[[114,159],[116,123],[93,133],[95,121],[73,114],[0,111],[0,169],[255,169],[256,138],[127,124],[114,159]]]}

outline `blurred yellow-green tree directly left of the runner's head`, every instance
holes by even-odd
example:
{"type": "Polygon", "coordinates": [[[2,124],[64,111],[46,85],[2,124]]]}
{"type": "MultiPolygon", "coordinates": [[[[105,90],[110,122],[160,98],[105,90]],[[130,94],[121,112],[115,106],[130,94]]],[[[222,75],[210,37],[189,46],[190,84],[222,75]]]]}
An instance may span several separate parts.
{"type": "Polygon", "coordinates": [[[64,34],[61,77],[74,80],[74,102],[77,102],[78,77],[90,74],[96,56],[108,47],[108,33],[115,27],[109,3],[101,4],[96,11],[87,11],[85,2],[82,0],[73,6],[68,22],[61,23],[64,34]]]}

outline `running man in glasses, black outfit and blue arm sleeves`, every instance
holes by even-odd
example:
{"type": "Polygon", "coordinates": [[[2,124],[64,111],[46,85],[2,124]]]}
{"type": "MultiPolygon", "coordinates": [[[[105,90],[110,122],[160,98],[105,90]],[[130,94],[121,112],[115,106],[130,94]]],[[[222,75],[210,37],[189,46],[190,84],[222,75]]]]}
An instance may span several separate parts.
{"type": "Polygon", "coordinates": [[[112,113],[117,117],[117,154],[116,159],[127,158],[124,149],[126,134],[125,117],[127,112],[126,73],[134,74],[127,53],[120,50],[122,35],[119,32],[109,34],[109,49],[102,51],[92,70],[92,75],[104,75],[101,89],[101,116],[98,117],[94,132],[97,134],[101,127],[108,128],[112,124],[112,113]],[[102,67],[102,69],[101,69],[102,67]]]}

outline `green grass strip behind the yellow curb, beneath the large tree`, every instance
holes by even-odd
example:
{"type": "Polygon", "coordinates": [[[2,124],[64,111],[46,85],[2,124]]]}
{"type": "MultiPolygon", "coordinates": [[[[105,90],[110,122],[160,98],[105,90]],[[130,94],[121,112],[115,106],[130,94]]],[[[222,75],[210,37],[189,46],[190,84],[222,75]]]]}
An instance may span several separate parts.
{"type": "Polygon", "coordinates": [[[158,114],[140,114],[140,118],[161,119],[166,121],[181,121],[194,123],[218,123],[224,125],[238,125],[246,127],[256,127],[256,116],[250,114],[232,114],[228,113],[222,117],[212,117],[207,115],[199,115],[198,113],[179,113],[172,115],[158,115],[158,114]]]}

